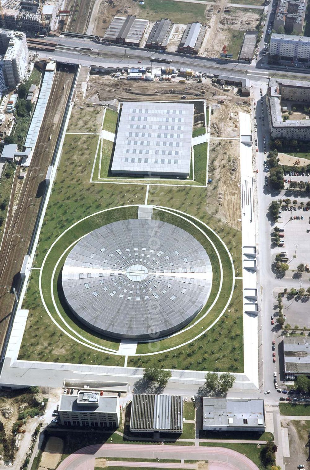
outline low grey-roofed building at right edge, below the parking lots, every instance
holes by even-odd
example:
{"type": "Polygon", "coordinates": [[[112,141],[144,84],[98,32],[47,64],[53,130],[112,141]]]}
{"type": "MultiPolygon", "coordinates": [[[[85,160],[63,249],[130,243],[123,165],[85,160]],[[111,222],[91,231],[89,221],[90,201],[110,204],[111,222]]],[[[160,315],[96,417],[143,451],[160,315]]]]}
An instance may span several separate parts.
{"type": "Polygon", "coordinates": [[[310,341],[303,337],[283,337],[286,376],[310,375],[310,341]]]}

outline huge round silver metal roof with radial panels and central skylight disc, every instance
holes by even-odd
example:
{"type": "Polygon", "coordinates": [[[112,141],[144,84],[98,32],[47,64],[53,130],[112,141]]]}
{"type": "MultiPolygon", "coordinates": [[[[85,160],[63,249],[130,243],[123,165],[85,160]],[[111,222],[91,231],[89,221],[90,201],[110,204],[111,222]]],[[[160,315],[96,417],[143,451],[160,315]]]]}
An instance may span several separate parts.
{"type": "Polygon", "coordinates": [[[62,269],[72,312],[108,337],[156,339],[184,327],[209,298],[201,243],[159,220],[113,222],[82,238],[62,269]]]}

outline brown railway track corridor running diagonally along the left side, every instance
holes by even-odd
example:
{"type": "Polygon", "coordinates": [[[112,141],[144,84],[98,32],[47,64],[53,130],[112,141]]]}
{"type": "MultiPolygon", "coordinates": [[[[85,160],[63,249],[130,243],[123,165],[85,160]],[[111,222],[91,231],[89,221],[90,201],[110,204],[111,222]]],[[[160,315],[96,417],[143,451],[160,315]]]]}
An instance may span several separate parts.
{"type": "Polygon", "coordinates": [[[20,167],[17,167],[13,180],[13,191],[8,206],[8,219],[0,249],[0,350],[3,350],[8,328],[12,319],[16,292],[20,289],[20,269],[23,258],[28,254],[33,229],[35,227],[42,196],[45,192],[45,175],[52,161],[58,133],[62,124],[74,78],[74,68],[66,66],[56,71],[52,91],[47,104],[45,117],[39,132],[38,143],[31,164],[23,181],[16,207],[14,198],[20,167]],[[52,137],[50,139],[50,136],[52,137]]]}

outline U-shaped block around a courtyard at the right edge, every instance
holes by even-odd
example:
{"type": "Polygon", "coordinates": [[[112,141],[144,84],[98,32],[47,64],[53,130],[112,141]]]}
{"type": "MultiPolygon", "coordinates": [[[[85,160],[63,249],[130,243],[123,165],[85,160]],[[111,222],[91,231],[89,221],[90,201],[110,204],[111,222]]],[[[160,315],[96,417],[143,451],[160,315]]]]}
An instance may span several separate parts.
{"type": "Polygon", "coordinates": [[[296,80],[269,80],[267,89],[267,115],[272,138],[310,140],[309,120],[283,121],[281,99],[287,101],[309,102],[310,82],[296,80]]]}

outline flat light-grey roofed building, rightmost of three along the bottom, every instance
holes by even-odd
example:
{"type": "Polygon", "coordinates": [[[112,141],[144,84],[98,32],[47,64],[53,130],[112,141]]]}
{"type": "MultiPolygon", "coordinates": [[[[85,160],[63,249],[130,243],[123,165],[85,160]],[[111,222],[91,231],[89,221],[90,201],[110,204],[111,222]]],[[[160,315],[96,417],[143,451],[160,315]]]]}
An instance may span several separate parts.
{"type": "Polygon", "coordinates": [[[265,431],[264,400],[203,398],[204,431],[265,431]]]}

